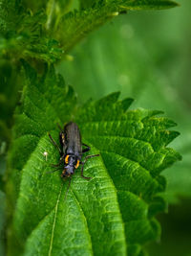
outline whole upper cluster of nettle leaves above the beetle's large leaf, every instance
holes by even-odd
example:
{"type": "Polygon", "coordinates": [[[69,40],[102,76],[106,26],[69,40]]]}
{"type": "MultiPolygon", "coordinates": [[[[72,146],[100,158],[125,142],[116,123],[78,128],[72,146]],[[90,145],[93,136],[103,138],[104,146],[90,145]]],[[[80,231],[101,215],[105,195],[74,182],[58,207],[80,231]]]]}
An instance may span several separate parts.
{"type": "Polygon", "coordinates": [[[83,9],[73,11],[71,1],[42,1],[40,5],[39,2],[0,2],[1,57],[14,61],[35,58],[54,62],[60,59],[63,50],[68,51],[80,38],[114,17],[116,12],[177,6],[172,1],[163,0],[94,1],[91,7],[84,9],[82,4],[83,9]],[[27,9],[28,5],[33,11],[27,9]],[[39,11],[40,7],[44,9],[39,11]]]}

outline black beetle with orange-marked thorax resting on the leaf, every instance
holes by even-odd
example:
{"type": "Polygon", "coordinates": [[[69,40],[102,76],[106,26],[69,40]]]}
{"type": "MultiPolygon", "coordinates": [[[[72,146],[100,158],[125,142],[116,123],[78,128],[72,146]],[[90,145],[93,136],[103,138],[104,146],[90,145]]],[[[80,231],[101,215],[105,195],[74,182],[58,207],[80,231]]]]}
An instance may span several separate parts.
{"type": "MultiPolygon", "coordinates": [[[[74,175],[75,169],[77,169],[79,165],[81,165],[81,177],[85,179],[91,179],[91,177],[83,175],[84,165],[89,158],[99,156],[99,154],[87,155],[85,157],[85,160],[82,162],[81,161],[82,154],[84,152],[90,151],[91,148],[88,145],[81,142],[81,134],[77,125],[73,122],[70,122],[65,125],[64,129],[62,129],[61,127],[59,128],[60,128],[59,139],[60,139],[61,149],[58,147],[56,142],[53,140],[52,135],[49,133],[49,137],[53,145],[57,148],[57,150],[60,153],[59,163],[52,166],[56,168],[53,172],[59,171],[62,169],[61,177],[70,178],[69,186],[68,186],[68,190],[69,190],[71,180],[72,180],[72,175],[74,175]],[[82,146],[84,146],[85,148],[82,149],[82,146]]],[[[53,172],[50,172],[50,173],[53,173],[53,172]]],[[[67,190],[67,193],[68,193],[68,190],[67,190]]]]}

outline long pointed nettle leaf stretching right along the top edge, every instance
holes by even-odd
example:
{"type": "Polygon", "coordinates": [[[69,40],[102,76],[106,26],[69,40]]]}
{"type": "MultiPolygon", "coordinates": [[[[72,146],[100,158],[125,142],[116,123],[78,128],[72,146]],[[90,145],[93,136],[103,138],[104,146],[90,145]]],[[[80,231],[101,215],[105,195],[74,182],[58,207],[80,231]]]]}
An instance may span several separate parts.
{"type": "Polygon", "coordinates": [[[110,0],[80,1],[81,10],[68,12],[60,19],[55,37],[61,42],[64,51],[120,12],[134,10],[162,10],[178,6],[168,0],[110,0]]]}

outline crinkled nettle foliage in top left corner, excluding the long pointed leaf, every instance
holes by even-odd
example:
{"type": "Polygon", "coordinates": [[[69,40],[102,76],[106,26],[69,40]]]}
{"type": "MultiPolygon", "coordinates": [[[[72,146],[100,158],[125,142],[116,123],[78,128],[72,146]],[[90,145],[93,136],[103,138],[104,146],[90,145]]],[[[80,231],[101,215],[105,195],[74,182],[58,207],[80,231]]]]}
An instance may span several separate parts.
{"type": "Polygon", "coordinates": [[[47,17],[43,11],[32,13],[19,1],[2,1],[0,9],[0,56],[36,58],[48,62],[60,59],[58,42],[46,35],[47,17]]]}

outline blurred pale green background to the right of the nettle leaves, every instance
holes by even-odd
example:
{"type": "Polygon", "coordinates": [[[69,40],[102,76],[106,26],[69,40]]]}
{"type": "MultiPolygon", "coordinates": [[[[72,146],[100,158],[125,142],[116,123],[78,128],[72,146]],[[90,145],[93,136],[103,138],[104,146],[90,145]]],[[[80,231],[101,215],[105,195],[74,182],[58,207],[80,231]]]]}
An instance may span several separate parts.
{"type": "Polygon", "coordinates": [[[163,173],[169,210],[159,216],[161,240],[147,245],[151,256],[191,255],[191,2],[179,3],[117,16],[57,65],[81,103],[121,91],[136,100],[132,108],[163,110],[178,123],[170,146],[183,159],[163,173]]]}

